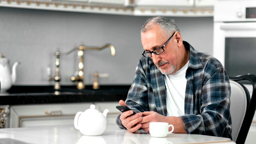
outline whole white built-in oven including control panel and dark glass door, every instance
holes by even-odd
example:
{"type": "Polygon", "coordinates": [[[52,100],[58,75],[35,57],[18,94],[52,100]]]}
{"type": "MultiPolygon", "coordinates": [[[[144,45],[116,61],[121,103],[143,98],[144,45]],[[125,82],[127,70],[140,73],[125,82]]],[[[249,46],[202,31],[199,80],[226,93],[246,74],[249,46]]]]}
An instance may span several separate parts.
{"type": "Polygon", "coordinates": [[[256,0],[216,0],[213,44],[229,76],[256,74],[256,0]]]}

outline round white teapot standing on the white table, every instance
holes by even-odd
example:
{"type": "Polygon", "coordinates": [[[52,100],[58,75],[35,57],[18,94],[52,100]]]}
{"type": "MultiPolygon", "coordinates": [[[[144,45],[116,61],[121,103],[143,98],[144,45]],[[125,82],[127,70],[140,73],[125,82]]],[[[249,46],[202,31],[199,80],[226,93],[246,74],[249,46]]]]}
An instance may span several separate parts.
{"type": "Polygon", "coordinates": [[[76,113],[74,119],[74,126],[76,129],[87,136],[99,136],[105,130],[107,126],[107,114],[109,110],[104,110],[103,114],[95,109],[95,105],[92,104],[90,109],[85,112],[76,113]]]}

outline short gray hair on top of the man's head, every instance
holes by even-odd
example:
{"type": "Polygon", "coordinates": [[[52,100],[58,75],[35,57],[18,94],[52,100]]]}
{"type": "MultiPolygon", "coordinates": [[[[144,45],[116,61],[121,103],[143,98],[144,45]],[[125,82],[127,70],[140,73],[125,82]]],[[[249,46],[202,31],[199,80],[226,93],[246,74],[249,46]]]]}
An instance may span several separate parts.
{"type": "Polygon", "coordinates": [[[156,16],[149,18],[141,28],[140,34],[150,30],[150,27],[154,24],[160,26],[162,32],[169,38],[174,32],[180,32],[178,26],[175,24],[174,20],[165,16],[156,16]]]}

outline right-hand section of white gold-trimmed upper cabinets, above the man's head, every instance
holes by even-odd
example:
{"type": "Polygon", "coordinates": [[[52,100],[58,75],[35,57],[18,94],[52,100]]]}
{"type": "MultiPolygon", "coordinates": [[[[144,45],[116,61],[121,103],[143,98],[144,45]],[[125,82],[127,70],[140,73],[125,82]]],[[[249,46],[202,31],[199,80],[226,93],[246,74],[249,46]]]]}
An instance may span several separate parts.
{"type": "Polygon", "coordinates": [[[136,16],[213,16],[215,0],[138,0],[136,16]]]}

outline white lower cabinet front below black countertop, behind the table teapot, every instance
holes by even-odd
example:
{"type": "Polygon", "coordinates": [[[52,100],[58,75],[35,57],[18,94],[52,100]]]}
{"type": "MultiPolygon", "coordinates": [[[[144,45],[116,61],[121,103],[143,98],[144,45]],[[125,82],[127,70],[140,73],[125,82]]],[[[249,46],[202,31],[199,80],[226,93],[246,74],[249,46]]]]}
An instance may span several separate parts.
{"type": "MultiPolygon", "coordinates": [[[[10,106],[10,128],[73,125],[77,112],[84,112],[93,103],[36,104],[10,106]]],[[[115,124],[118,102],[97,102],[96,109],[108,109],[107,122],[115,124]],[[113,108],[114,107],[114,108],[113,108]]]]}

